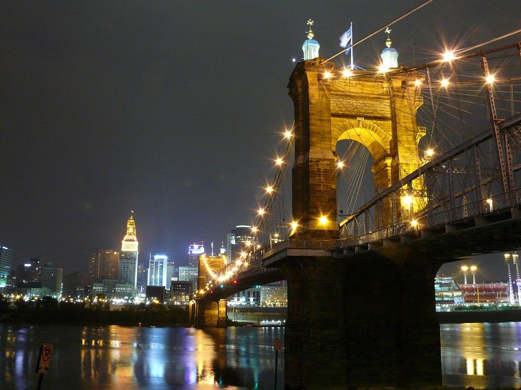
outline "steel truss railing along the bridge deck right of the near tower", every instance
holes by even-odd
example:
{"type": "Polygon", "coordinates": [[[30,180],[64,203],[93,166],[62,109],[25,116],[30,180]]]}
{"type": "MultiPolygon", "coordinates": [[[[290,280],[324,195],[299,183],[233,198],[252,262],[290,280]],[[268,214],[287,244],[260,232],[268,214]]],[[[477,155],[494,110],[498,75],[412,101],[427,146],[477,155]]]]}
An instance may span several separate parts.
{"type": "MultiPolygon", "coordinates": [[[[341,239],[358,244],[457,224],[521,205],[521,139],[513,137],[521,116],[500,126],[507,153],[507,180],[490,131],[484,131],[427,162],[391,185],[340,224],[341,239]],[[516,183],[517,182],[517,183],[516,183]],[[419,187],[420,183],[421,187],[419,187]],[[407,202],[408,203],[407,203],[407,202]]],[[[470,222],[470,221],[468,221],[470,222]]]]}

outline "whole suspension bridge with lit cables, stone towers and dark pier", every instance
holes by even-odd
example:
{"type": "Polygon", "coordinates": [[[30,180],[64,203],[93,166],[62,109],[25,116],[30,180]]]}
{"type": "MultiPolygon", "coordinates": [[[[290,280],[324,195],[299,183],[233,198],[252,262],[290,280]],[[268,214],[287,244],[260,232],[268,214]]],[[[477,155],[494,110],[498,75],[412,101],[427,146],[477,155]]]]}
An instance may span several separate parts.
{"type": "Polygon", "coordinates": [[[521,42],[297,64],[252,238],[228,264],[202,257],[196,325],[226,326],[227,297],[286,279],[287,388],[441,385],[439,266],[521,248],[520,70],[521,42]]]}

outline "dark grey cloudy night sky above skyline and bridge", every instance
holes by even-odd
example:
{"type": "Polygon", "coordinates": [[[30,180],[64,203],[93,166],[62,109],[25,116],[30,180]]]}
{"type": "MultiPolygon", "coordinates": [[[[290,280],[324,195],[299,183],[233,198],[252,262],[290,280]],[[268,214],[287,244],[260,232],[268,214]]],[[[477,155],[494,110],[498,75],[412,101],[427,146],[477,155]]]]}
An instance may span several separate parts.
{"type": "MultiPolygon", "coordinates": [[[[252,222],[271,178],[308,18],[329,57],[350,22],[356,41],[420,3],[2,1],[0,243],[15,264],[40,256],[86,274],[90,252],[121,248],[132,209],[141,261],[218,248],[252,222]]],[[[515,0],[435,0],[391,38],[400,64],[413,43],[420,63],[444,42],[516,30],[520,16],[515,0]]],[[[374,66],[385,38],[356,47],[356,64],[374,66]]],[[[502,255],[476,261],[481,280],[506,277],[502,255]]]]}

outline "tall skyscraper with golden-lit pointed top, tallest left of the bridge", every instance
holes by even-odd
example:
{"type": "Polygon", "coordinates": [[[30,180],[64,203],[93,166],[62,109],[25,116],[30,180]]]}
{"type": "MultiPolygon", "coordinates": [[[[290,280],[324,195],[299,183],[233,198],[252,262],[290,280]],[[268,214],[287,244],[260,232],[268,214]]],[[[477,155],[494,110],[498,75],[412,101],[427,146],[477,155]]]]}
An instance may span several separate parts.
{"type": "Polygon", "coordinates": [[[119,253],[119,283],[132,285],[137,291],[138,278],[138,239],[136,236],[136,221],[134,211],[130,212],[127,220],[127,233],[121,242],[119,253]]]}

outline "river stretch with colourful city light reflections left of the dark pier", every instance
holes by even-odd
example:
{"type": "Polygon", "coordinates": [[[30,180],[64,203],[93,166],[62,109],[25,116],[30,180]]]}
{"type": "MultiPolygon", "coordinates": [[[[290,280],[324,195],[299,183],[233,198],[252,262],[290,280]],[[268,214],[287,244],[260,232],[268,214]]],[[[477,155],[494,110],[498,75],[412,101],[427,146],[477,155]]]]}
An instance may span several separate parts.
{"type": "Polygon", "coordinates": [[[39,346],[49,342],[49,388],[265,389],[274,378],[275,338],[282,328],[0,325],[0,388],[36,387],[39,346]]]}

